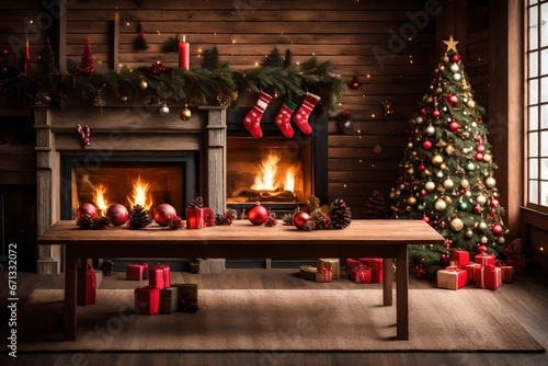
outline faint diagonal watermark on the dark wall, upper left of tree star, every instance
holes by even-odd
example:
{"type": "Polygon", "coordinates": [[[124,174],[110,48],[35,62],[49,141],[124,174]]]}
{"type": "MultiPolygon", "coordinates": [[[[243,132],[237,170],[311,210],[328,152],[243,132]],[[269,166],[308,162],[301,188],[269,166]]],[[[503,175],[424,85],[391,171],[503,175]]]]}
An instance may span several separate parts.
{"type": "Polygon", "coordinates": [[[373,55],[377,60],[380,69],[385,68],[385,62],[387,58],[395,58],[396,55],[406,49],[407,41],[416,36],[420,30],[424,30],[429,25],[432,16],[436,16],[442,11],[437,0],[426,0],[424,2],[424,10],[419,10],[416,12],[407,11],[406,16],[410,22],[403,23],[399,32],[389,28],[387,48],[380,46],[373,47],[373,55]]]}

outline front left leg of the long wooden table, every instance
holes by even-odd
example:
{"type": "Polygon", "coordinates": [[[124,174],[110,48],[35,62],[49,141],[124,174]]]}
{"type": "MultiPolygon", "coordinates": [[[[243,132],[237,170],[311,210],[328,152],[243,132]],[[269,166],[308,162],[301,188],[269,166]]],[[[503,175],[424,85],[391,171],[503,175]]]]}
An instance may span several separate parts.
{"type": "Polygon", "coordinates": [[[78,260],[70,245],[66,245],[65,268],[65,340],[76,340],[76,300],[77,300],[78,260]]]}

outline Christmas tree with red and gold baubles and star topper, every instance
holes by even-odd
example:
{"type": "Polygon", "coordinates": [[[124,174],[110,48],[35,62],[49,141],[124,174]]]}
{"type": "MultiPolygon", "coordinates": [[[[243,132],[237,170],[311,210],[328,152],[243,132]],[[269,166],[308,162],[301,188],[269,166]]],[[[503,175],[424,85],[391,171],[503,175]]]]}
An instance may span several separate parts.
{"type": "Polygon", "coordinates": [[[452,36],[444,43],[447,50],[411,119],[400,176],[390,193],[392,218],[423,219],[446,239],[445,245],[410,245],[419,276],[434,275],[455,250],[475,255],[486,245],[499,256],[507,233],[484,108],[473,100],[458,42],[452,36]]]}

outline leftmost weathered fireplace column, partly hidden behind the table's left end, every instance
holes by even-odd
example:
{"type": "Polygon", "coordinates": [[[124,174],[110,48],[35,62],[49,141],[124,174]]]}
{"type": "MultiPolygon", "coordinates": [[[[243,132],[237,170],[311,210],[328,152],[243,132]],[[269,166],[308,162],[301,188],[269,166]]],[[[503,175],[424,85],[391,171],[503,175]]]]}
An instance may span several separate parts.
{"type": "MultiPolygon", "coordinates": [[[[36,197],[38,236],[49,229],[54,222],[53,203],[55,190],[53,187],[54,173],[54,134],[52,133],[52,114],[47,106],[34,108],[34,128],[36,129],[36,197]]],[[[59,274],[60,245],[38,247],[37,273],[59,274]]]]}

